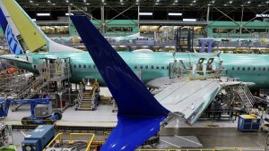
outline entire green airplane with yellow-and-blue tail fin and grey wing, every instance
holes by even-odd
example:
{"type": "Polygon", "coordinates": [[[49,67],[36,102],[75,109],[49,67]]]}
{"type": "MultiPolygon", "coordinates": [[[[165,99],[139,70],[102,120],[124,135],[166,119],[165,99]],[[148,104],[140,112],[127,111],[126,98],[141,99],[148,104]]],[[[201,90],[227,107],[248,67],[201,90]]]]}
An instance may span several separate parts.
{"type": "MultiPolygon", "coordinates": [[[[40,58],[70,58],[71,82],[96,79],[100,85],[106,84],[88,52],[50,40],[14,0],[0,0],[0,7],[0,23],[5,29],[5,38],[11,41],[9,46],[13,52],[13,55],[0,55],[1,63],[39,74],[40,58]],[[44,46],[48,52],[34,53],[44,46]],[[24,52],[29,53],[22,54],[24,52]]],[[[178,117],[184,114],[189,124],[193,124],[204,113],[220,89],[227,85],[239,85],[244,82],[251,85],[250,88],[269,87],[269,55],[165,52],[118,52],[118,55],[143,84],[149,88],[161,89],[154,96],[161,105],[178,117]],[[226,77],[238,81],[221,80],[219,71],[226,77]],[[178,76],[183,78],[183,75],[189,76],[190,80],[178,81],[178,76]],[[204,75],[207,78],[203,78],[204,75]]],[[[114,76],[114,73],[110,74],[111,77],[114,76]]],[[[113,78],[110,80],[121,81],[113,78]]]]}

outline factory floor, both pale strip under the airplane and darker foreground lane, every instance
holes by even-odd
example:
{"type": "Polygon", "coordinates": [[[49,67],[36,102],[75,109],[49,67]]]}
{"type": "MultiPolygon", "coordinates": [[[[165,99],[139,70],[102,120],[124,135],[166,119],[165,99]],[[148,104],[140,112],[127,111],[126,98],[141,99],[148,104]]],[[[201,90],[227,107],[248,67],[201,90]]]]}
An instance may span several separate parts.
{"type": "MultiPolygon", "coordinates": [[[[95,111],[75,111],[69,107],[63,113],[62,121],[56,125],[110,127],[117,124],[117,113],[112,105],[100,105],[95,111]]],[[[30,114],[30,106],[23,106],[16,112],[10,111],[3,119],[6,124],[21,124],[21,119],[30,114]]],[[[160,132],[161,144],[169,147],[265,147],[265,132],[241,132],[236,122],[198,121],[193,126],[184,120],[170,122],[160,132]],[[214,127],[211,127],[214,125],[214,127]]],[[[29,131],[24,133],[27,135],[29,131]]],[[[20,145],[22,131],[13,132],[14,144],[20,145]]]]}

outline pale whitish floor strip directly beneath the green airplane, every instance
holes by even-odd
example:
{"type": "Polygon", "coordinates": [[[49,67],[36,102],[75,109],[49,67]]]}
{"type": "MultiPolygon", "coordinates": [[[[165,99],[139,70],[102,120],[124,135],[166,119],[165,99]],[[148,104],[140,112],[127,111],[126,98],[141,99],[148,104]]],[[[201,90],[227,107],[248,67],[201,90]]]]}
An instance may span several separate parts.
{"type": "MultiPolygon", "coordinates": [[[[67,108],[63,113],[61,121],[57,121],[56,125],[70,126],[100,126],[112,127],[117,125],[117,113],[112,113],[112,105],[99,105],[95,111],[76,111],[73,107],[67,108]]],[[[24,105],[18,111],[9,111],[8,116],[3,119],[7,124],[22,124],[21,120],[25,116],[30,115],[30,106],[24,105]]],[[[191,127],[222,127],[235,128],[238,122],[213,122],[198,121],[194,125],[188,125],[184,119],[176,119],[170,122],[167,128],[191,128],[191,127]]]]}

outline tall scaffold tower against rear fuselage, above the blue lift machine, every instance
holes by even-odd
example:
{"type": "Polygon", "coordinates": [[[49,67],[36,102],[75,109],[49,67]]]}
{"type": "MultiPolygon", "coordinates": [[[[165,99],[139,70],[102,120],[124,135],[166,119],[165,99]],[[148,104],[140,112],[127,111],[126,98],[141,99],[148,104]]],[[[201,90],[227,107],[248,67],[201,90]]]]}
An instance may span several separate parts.
{"type": "Polygon", "coordinates": [[[44,81],[48,82],[47,88],[44,88],[52,100],[54,108],[60,108],[62,111],[71,104],[70,82],[71,65],[70,58],[39,58],[39,74],[44,81]],[[68,102],[63,101],[63,95],[68,93],[68,102]]]}

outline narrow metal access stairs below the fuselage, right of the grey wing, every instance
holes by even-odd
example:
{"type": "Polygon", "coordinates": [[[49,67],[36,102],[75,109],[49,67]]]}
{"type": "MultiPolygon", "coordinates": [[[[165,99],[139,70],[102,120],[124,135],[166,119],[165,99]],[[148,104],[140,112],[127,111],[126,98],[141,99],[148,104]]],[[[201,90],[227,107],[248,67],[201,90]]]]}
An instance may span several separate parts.
{"type": "Polygon", "coordinates": [[[250,113],[253,108],[253,105],[255,104],[254,96],[251,94],[250,90],[247,88],[245,84],[239,85],[238,94],[239,97],[241,98],[241,101],[244,105],[246,112],[250,113]]]}

